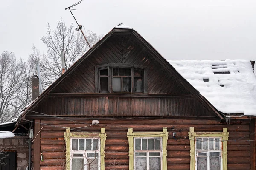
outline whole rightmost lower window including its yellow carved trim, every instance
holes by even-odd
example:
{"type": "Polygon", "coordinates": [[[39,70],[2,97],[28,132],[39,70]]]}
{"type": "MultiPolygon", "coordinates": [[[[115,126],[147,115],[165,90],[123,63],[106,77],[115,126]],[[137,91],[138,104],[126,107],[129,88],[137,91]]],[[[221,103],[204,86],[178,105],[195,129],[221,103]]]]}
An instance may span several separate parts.
{"type": "Polygon", "coordinates": [[[227,170],[227,128],[223,132],[189,129],[190,170],[227,170]]]}

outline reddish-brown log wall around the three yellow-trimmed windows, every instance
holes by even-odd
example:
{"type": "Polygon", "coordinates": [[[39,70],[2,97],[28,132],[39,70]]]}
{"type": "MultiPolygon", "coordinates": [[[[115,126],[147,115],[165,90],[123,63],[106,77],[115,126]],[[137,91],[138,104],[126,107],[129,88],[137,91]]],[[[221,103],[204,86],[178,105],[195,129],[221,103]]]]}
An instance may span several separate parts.
{"type": "MultiPolygon", "coordinates": [[[[91,123],[92,119],[76,119],[83,123],[91,123]]],[[[61,127],[82,127],[84,124],[78,122],[56,120],[41,120],[44,124],[61,127]]],[[[195,127],[195,131],[222,131],[227,127],[229,131],[228,141],[228,169],[229,170],[250,170],[250,122],[249,120],[230,122],[220,122],[218,120],[188,120],[188,119],[110,119],[101,120],[99,124],[92,127],[84,127],[79,130],[86,132],[99,132],[101,127],[106,128],[107,139],[105,143],[105,169],[128,170],[128,127],[134,131],[160,131],[167,127],[169,139],[167,142],[167,163],[168,169],[189,170],[189,127],[195,127]],[[175,130],[171,130],[174,126],[175,130]],[[172,133],[177,132],[177,140],[172,137],[172,133]],[[237,138],[244,137],[242,140],[237,138]],[[186,138],[184,138],[186,137],[186,138]]],[[[46,125],[41,125],[41,127],[46,125]]],[[[72,131],[72,130],[71,130],[72,131]]],[[[64,129],[57,127],[43,128],[41,131],[41,152],[44,161],[40,161],[40,169],[57,170],[65,163],[65,142],[64,129]],[[58,166],[56,166],[58,165],[58,166]]],[[[61,169],[60,169],[61,170],[61,169]]]]}

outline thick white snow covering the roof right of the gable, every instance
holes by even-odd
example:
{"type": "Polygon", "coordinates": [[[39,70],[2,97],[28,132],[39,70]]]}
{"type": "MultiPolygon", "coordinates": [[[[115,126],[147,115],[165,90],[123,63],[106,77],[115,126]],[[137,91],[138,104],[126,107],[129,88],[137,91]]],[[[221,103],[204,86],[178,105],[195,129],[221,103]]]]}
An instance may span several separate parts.
{"type": "Polygon", "coordinates": [[[219,111],[256,116],[256,76],[250,60],[168,62],[219,111]]]}

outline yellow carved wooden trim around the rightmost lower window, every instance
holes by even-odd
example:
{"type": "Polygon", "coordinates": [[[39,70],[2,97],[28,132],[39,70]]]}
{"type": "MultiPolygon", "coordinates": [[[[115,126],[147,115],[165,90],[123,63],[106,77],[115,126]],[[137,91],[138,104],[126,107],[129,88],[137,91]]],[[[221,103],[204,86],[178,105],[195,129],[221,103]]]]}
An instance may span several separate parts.
{"type": "Polygon", "coordinates": [[[195,170],[195,138],[197,137],[221,137],[222,138],[222,170],[227,170],[227,128],[223,132],[195,132],[194,127],[189,128],[190,141],[190,170],[195,170]]]}

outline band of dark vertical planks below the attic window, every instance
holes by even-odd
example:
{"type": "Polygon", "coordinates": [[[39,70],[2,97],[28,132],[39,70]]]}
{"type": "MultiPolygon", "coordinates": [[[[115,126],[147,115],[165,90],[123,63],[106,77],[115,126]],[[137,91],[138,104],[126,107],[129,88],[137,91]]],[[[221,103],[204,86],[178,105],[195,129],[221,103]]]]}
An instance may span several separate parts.
{"type": "MultiPolygon", "coordinates": [[[[212,116],[194,98],[166,97],[47,97],[41,113],[83,116],[212,116]]],[[[37,114],[37,113],[34,113],[37,114]]]]}

